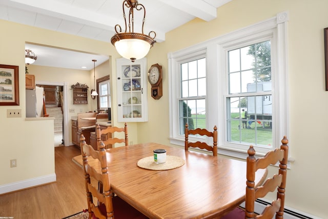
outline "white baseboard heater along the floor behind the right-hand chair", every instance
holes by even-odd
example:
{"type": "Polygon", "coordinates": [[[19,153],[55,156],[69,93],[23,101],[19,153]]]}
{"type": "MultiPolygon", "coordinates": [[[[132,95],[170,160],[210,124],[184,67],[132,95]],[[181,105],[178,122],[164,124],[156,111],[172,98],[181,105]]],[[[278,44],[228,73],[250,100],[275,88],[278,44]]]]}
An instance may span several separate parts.
{"type": "MultiPolygon", "coordinates": [[[[255,206],[254,206],[254,212],[256,213],[260,213],[264,210],[264,208],[267,205],[270,205],[271,202],[265,198],[261,198],[256,200],[255,202],[255,206]]],[[[245,207],[245,203],[241,203],[240,205],[241,207],[245,207]]],[[[275,218],[275,217],[274,217],[275,218]]],[[[293,209],[291,207],[285,206],[284,208],[284,212],[283,212],[283,218],[284,219],[322,219],[320,217],[302,212],[300,210],[297,209],[293,209]]]]}

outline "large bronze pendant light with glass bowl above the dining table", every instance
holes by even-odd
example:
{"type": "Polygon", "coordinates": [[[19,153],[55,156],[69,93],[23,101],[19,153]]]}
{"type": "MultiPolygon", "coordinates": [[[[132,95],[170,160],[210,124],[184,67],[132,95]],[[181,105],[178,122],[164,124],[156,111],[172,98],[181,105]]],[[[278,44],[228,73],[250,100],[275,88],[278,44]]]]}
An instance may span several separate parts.
{"type": "Polygon", "coordinates": [[[123,17],[125,21],[125,32],[122,32],[121,26],[115,25],[116,34],[112,37],[111,42],[115,46],[117,52],[127,59],[134,62],[136,59],[143,58],[147,55],[150,48],[154,46],[156,41],[156,33],[150,31],[148,35],[144,34],[144,24],[146,17],[146,9],[143,5],[138,4],[137,0],[123,1],[123,17]],[[127,32],[127,16],[125,8],[129,9],[129,32],[127,32]],[[144,9],[144,18],[142,19],[141,33],[134,32],[134,9],[141,11],[144,9]],[[117,30],[119,28],[119,31],[117,30]],[[153,37],[150,36],[151,33],[153,37]]]}

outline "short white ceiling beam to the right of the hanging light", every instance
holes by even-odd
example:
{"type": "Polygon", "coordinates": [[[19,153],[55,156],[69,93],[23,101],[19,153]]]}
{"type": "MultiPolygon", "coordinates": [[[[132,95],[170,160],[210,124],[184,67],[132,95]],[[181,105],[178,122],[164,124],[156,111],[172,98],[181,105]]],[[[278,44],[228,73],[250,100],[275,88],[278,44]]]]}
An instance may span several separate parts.
{"type": "Polygon", "coordinates": [[[204,21],[216,18],[216,8],[202,0],[158,0],[204,21]]]}

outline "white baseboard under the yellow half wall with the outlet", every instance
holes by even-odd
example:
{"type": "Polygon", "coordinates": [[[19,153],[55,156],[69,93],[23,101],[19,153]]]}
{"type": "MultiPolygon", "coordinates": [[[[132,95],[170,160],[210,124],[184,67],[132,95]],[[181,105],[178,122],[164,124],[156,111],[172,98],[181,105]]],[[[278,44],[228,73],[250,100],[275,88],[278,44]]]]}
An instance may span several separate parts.
{"type": "Polygon", "coordinates": [[[0,194],[56,182],[56,174],[49,174],[0,186],[0,194]]]}

